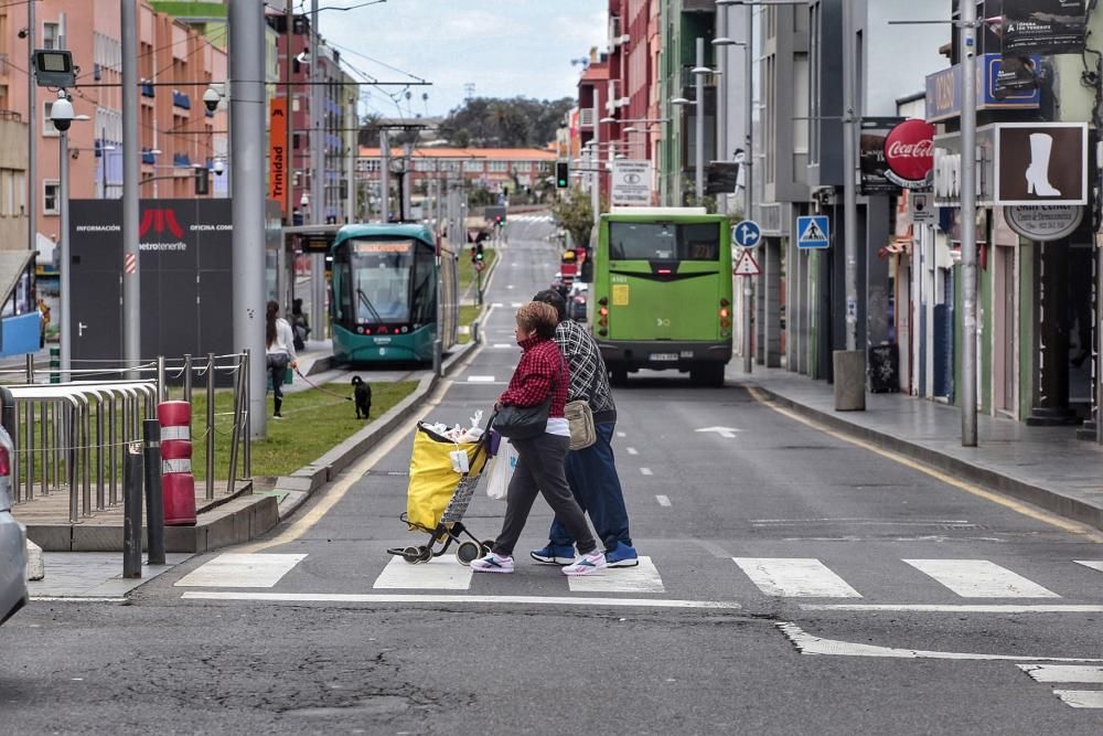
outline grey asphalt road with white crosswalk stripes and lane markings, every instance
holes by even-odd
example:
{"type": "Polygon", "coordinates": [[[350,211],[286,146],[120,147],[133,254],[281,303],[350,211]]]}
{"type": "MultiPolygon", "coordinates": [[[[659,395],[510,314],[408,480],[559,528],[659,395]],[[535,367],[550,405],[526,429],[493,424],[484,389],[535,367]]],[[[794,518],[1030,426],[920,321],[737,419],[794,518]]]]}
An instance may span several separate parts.
{"type": "MultiPolygon", "coordinates": [[[[516,363],[515,305],[556,254],[547,223],[508,227],[484,346],[424,417],[489,410],[516,363]]],[[[39,602],[0,628],[3,730],[1103,733],[1103,710],[1067,702],[1103,691],[1103,572],[1080,564],[1100,566],[1103,537],[737,386],[652,373],[615,398],[650,564],[575,589],[527,564],[542,501],[512,576],[388,556],[425,541],[398,520],[408,426],[271,537],[228,551],[251,555],[244,575],[204,555],[129,605],[39,602]]],[[[492,537],[502,512],[480,488],[465,521],[492,537]]]]}

